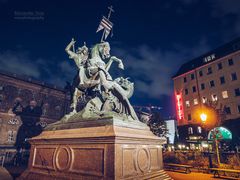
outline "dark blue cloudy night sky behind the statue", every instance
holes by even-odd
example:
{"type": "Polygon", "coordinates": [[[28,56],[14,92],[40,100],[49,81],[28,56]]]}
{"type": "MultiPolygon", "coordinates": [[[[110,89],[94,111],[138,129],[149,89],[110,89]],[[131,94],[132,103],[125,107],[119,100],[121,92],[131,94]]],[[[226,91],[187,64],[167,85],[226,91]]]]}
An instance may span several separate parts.
{"type": "Polygon", "coordinates": [[[0,70],[64,87],[77,70],[66,45],[100,42],[110,5],[107,41],[125,64],[110,72],[135,83],[133,105],[161,106],[165,117],[175,112],[171,77],[180,65],[240,36],[239,0],[0,0],[0,70]]]}

